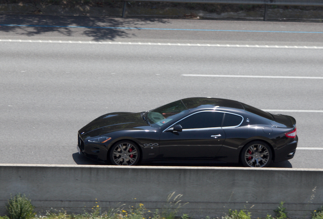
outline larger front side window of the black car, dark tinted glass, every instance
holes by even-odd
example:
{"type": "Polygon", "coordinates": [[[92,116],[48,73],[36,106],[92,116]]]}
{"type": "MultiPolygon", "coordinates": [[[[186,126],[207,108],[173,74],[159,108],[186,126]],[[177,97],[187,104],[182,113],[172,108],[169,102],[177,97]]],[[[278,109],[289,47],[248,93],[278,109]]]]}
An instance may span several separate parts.
{"type": "Polygon", "coordinates": [[[223,115],[219,112],[201,112],[193,114],[177,124],[180,124],[183,129],[221,127],[223,115]]]}

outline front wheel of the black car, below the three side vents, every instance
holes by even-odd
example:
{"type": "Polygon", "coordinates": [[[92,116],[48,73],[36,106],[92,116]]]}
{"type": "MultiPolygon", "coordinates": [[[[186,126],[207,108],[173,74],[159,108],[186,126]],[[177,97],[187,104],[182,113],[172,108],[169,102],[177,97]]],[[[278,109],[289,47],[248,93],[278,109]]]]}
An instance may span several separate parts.
{"type": "Polygon", "coordinates": [[[112,165],[136,165],[140,159],[139,147],[132,141],[119,141],[110,151],[112,165]]]}

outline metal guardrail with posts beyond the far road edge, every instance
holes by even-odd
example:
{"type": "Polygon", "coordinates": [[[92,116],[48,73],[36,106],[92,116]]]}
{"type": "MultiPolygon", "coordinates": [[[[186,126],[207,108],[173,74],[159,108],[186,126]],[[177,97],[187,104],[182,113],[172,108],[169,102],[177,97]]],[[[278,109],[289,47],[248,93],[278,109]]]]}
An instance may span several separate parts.
{"type": "MultiPolygon", "coordinates": [[[[279,6],[322,6],[323,0],[131,0],[132,2],[165,2],[165,3],[197,3],[197,4],[239,4],[239,5],[265,5],[264,21],[267,19],[269,5],[279,6]]],[[[125,17],[126,3],[124,1],[122,17],[125,17]]]]}

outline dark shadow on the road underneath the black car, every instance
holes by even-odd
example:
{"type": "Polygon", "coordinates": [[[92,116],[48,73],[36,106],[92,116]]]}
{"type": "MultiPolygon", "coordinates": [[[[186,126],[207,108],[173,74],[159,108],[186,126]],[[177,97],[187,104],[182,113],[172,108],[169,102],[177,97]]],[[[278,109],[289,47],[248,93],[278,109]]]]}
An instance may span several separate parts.
{"type": "MultiPolygon", "coordinates": [[[[97,161],[91,160],[79,153],[74,153],[72,155],[73,160],[78,165],[108,165],[106,163],[99,163],[97,161]]],[[[138,166],[198,166],[198,167],[242,167],[240,164],[179,164],[179,163],[149,163],[149,164],[139,164],[138,166]]],[[[269,167],[273,168],[293,168],[289,161],[283,161],[279,163],[272,163],[269,167]]]]}

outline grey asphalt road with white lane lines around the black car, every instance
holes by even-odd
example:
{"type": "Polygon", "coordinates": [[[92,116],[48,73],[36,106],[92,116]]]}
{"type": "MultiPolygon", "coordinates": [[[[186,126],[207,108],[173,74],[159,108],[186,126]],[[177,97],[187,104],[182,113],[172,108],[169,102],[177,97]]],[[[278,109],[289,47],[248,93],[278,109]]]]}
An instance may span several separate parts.
{"type": "Polygon", "coordinates": [[[295,117],[299,150],[272,167],[321,168],[322,39],[321,23],[0,15],[0,163],[95,164],[76,153],[94,118],[211,96],[295,117]]]}

